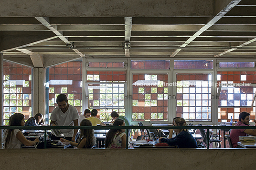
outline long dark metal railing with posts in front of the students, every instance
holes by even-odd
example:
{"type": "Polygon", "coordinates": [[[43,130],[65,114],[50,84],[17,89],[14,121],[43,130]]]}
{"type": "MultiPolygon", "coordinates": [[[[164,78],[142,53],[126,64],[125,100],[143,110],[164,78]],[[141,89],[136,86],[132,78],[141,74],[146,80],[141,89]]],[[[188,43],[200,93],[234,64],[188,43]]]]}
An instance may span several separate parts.
{"type": "MultiPolygon", "coordinates": [[[[209,130],[232,130],[232,129],[256,129],[256,126],[0,126],[0,130],[4,129],[22,129],[22,130],[44,130],[44,141],[47,140],[47,130],[52,129],[125,129],[126,130],[126,149],[128,149],[128,130],[129,129],[206,129],[206,145],[209,149],[209,130]]],[[[203,138],[203,136],[202,136],[203,138]]],[[[225,142],[225,141],[224,141],[225,142]]],[[[44,142],[44,148],[46,142],[44,142]]]]}

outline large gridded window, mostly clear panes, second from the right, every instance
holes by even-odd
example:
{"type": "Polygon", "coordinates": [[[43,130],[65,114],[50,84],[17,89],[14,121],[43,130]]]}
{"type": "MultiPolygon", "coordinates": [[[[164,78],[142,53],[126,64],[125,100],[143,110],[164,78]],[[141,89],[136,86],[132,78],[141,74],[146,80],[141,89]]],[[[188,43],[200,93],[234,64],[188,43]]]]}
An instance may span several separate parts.
{"type": "Polygon", "coordinates": [[[185,120],[211,120],[212,75],[176,74],[176,116],[185,120]]]}

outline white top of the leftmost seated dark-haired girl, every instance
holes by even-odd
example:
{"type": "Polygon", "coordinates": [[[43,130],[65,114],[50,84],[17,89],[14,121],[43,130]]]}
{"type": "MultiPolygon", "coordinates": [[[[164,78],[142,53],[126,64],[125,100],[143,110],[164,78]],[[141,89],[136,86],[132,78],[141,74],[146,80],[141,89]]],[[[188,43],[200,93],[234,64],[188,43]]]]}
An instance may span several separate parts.
{"type": "MultiPolygon", "coordinates": [[[[18,129],[12,130],[12,132],[11,132],[11,140],[7,144],[7,147],[4,146],[5,149],[16,149],[16,148],[20,149],[21,148],[21,144],[22,143],[21,143],[20,140],[18,140],[18,138],[16,138],[16,134],[19,131],[21,131],[21,130],[18,130],[18,129]]],[[[4,135],[4,142],[3,143],[5,144],[5,140],[7,138],[7,130],[4,130],[4,134],[3,135],[4,135]]]]}

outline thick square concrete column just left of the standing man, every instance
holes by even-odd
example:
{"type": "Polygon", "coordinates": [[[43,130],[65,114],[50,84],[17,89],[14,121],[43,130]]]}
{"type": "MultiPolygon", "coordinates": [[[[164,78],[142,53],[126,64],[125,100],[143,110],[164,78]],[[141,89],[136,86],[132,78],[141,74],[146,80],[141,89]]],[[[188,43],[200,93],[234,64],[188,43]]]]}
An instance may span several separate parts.
{"type": "Polygon", "coordinates": [[[33,115],[43,114],[45,117],[45,71],[44,68],[33,68],[33,115]]]}

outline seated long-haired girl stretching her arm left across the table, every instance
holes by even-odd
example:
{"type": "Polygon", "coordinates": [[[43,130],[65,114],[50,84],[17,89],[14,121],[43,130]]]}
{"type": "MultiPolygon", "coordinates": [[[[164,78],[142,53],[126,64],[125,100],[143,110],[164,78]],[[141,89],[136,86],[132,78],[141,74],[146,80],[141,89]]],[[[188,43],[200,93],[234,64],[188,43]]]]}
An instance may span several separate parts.
{"type": "MultiPolygon", "coordinates": [[[[90,120],[84,119],[81,121],[80,126],[92,126],[92,122],[90,120]]],[[[63,138],[60,140],[62,142],[69,142],[72,146],[77,148],[92,148],[94,145],[96,145],[96,138],[94,136],[93,129],[81,129],[80,131],[81,133],[78,139],[78,143],[65,140],[63,138]]]]}

